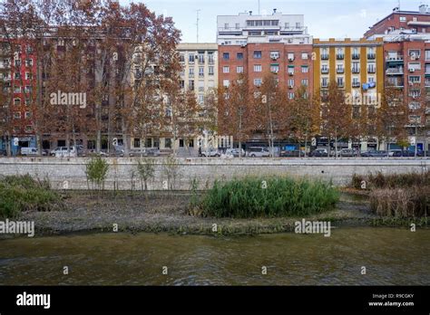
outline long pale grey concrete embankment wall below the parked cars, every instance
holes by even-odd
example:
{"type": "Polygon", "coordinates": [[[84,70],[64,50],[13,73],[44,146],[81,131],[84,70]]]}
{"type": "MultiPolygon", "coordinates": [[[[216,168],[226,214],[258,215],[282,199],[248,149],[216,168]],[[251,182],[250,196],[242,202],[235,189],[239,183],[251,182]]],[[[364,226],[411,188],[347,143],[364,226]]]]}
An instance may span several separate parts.
{"type": "MultiPolygon", "coordinates": [[[[136,169],[138,157],[107,158],[110,164],[106,189],[131,189],[132,170],[136,169]]],[[[155,178],[149,189],[166,189],[165,166],[167,158],[155,158],[155,178]]],[[[0,176],[30,174],[34,177],[48,177],[54,188],[86,189],[85,163],[88,158],[58,157],[0,157],[0,176]]],[[[243,176],[288,175],[292,177],[318,177],[333,180],[336,185],[346,185],[354,173],[366,175],[375,173],[424,172],[430,166],[430,159],[383,159],[383,158],[176,158],[178,176],[171,184],[174,189],[190,188],[196,178],[200,188],[210,186],[216,179],[243,176]]],[[[137,174],[135,186],[140,189],[137,174]]]]}

